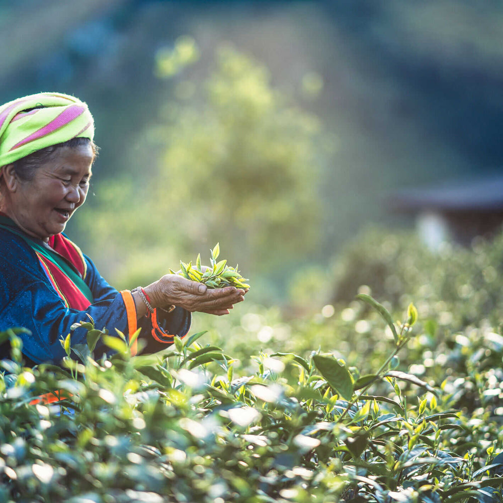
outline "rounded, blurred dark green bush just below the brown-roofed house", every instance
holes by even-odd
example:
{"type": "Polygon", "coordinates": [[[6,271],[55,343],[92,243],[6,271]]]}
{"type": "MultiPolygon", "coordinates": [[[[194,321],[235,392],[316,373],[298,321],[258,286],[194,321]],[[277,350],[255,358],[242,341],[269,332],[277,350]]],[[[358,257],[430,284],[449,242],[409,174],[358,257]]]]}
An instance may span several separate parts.
{"type": "Polygon", "coordinates": [[[503,233],[476,238],[471,247],[443,243],[431,251],[411,232],[369,228],[333,264],[332,301],[348,303],[361,285],[376,298],[403,309],[413,300],[423,319],[450,329],[502,318],[503,233]]]}

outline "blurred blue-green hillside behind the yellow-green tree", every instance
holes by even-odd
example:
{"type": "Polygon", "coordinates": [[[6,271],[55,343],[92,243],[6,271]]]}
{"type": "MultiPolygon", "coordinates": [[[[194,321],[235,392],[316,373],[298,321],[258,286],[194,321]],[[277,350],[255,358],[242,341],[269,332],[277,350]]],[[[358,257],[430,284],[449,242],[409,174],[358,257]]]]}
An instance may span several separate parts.
{"type": "MultiPolygon", "coordinates": [[[[500,170],[502,21],[500,3],[468,0],[18,0],[0,5],[0,43],[8,48],[0,101],[58,90],[88,102],[102,147],[97,197],[88,199],[96,206],[103,181],[141,177],[160,154],[138,144],[145,128],[165,122],[177,83],[203,82],[216,48],[231,43],[319,119],[323,155],[306,170],[319,173],[312,197],[321,237],[298,264],[325,264],[365,223],[407,223],[386,209],[394,189],[500,170]],[[156,54],[185,34],[197,43],[198,62],[158,78],[156,54]]],[[[86,251],[113,273],[112,250],[86,251]]]]}

